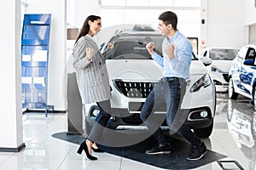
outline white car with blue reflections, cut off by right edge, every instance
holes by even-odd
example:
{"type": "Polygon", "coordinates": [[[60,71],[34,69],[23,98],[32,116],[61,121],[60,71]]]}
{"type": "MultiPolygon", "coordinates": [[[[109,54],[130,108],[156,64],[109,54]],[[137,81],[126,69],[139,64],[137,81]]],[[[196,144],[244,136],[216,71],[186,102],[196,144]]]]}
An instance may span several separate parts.
{"type": "Polygon", "coordinates": [[[236,99],[238,94],[253,99],[256,106],[256,45],[248,44],[239,50],[233,59],[229,73],[229,97],[236,99]]]}

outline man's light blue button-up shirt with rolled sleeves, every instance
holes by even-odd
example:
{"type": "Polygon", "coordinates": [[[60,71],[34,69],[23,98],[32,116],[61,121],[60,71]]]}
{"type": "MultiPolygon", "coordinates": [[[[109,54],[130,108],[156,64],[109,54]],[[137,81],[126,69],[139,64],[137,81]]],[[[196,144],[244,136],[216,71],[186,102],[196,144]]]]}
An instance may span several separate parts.
{"type": "Polygon", "coordinates": [[[189,67],[191,63],[192,45],[187,37],[177,31],[171,38],[166,37],[162,43],[163,58],[154,52],[152,58],[164,67],[164,77],[182,77],[189,79],[189,67]],[[173,59],[169,59],[166,48],[174,44],[175,50],[173,59]]]}

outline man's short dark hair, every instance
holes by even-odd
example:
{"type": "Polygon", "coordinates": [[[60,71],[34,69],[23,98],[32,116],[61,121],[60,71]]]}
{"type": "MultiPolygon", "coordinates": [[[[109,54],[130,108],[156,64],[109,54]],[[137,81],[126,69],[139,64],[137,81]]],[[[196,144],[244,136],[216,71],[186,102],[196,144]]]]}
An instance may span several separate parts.
{"type": "Polygon", "coordinates": [[[172,28],[177,30],[177,15],[172,13],[172,11],[166,11],[160,14],[158,20],[162,20],[166,26],[171,24],[172,28]]]}

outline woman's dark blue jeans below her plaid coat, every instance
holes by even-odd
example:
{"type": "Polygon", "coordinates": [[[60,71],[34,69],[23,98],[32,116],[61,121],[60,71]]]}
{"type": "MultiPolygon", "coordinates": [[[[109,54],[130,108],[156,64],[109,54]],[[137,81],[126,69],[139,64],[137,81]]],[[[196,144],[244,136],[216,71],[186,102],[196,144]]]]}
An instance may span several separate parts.
{"type": "Polygon", "coordinates": [[[91,128],[90,134],[87,139],[91,142],[96,142],[102,137],[102,131],[106,127],[110,117],[111,117],[111,104],[110,100],[105,100],[96,103],[100,109],[99,115],[96,117],[96,122],[91,128]]]}

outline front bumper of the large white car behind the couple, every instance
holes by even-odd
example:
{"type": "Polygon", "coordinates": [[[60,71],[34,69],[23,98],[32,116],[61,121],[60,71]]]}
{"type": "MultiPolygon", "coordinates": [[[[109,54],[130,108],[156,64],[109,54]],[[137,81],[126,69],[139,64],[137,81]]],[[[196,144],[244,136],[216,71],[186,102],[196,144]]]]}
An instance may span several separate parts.
{"type": "MultiPolygon", "coordinates": [[[[189,85],[187,91],[192,84],[189,85]]],[[[113,109],[112,117],[108,122],[108,127],[118,128],[124,126],[140,127],[143,122],[140,119],[140,112],[146,98],[128,98],[121,94],[117,88],[112,87],[111,106],[113,109]]],[[[182,109],[188,111],[188,117],[185,120],[191,128],[208,127],[212,124],[215,114],[216,94],[215,85],[206,88],[202,87],[199,91],[194,93],[186,93],[183,99],[182,109]]],[[[86,123],[93,125],[96,119],[96,104],[87,104],[85,107],[86,123]]],[[[160,120],[165,120],[166,109],[163,107],[161,111],[155,111],[160,120]]],[[[162,123],[166,126],[166,122],[162,123]]]]}

